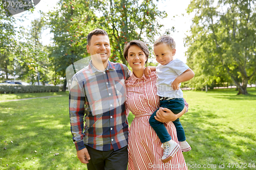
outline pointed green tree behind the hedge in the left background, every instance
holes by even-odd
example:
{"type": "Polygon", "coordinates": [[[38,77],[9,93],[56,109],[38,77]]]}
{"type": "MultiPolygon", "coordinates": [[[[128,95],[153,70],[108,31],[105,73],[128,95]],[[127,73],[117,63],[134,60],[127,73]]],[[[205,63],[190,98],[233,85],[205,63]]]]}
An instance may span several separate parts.
{"type": "MultiPolygon", "coordinates": [[[[39,79],[42,84],[48,81],[48,67],[49,59],[47,50],[48,48],[41,44],[41,31],[44,28],[44,21],[35,19],[31,22],[31,28],[28,33],[23,33],[26,37],[26,42],[17,42],[17,49],[15,58],[21,65],[21,72],[19,75],[24,79],[29,79],[32,83],[39,79]]],[[[23,37],[23,38],[24,38],[23,37]]]]}

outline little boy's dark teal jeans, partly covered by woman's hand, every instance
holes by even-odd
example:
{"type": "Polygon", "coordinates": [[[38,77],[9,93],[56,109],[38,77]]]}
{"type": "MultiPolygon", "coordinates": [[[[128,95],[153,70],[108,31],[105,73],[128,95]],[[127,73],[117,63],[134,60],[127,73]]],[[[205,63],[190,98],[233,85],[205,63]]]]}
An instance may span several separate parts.
{"type": "MultiPolygon", "coordinates": [[[[184,106],[185,106],[185,104],[184,104],[183,98],[175,98],[175,99],[171,99],[171,100],[167,100],[167,101],[160,101],[160,107],[170,109],[170,110],[172,110],[172,112],[174,112],[174,114],[180,113],[184,109],[184,106]]],[[[170,139],[172,139],[172,137],[170,137],[164,124],[161,122],[158,122],[155,119],[154,116],[156,115],[158,110],[159,110],[159,108],[150,117],[150,125],[156,131],[157,136],[159,137],[161,142],[164,143],[164,142],[167,142],[170,139]]],[[[185,141],[186,140],[185,132],[180,123],[180,119],[177,118],[173,123],[176,127],[178,140],[185,141]]]]}

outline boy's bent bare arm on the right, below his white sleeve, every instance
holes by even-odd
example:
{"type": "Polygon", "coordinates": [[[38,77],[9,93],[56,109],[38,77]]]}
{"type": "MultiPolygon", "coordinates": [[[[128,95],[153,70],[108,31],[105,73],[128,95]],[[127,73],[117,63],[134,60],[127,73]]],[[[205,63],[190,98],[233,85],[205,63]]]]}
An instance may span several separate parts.
{"type": "Polygon", "coordinates": [[[188,81],[190,79],[192,79],[195,76],[195,73],[193,70],[191,70],[190,68],[188,68],[187,70],[185,70],[183,72],[182,75],[178,76],[172,83],[172,88],[174,90],[178,90],[179,89],[179,84],[181,82],[185,82],[188,81]]]}

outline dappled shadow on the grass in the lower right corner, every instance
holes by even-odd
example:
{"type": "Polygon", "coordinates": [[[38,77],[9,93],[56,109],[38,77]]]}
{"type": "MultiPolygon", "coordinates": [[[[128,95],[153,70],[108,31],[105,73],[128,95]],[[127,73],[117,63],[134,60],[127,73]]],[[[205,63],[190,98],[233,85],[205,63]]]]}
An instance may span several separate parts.
{"type": "MultiPolygon", "coordinates": [[[[230,124],[225,122],[225,117],[212,112],[205,113],[203,110],[191,111],[184,116],[181,123],[192,148],[190,152],[183,153],[186,163],[216,164],[217,168],[214,169],[223,169],[219,167],[220,163],[254,163],[255,134],[232,129],[230,124]],[[215,119],[223,121],[216,122],[215,119]]],[[[228,168],[227,164],[225,167],[228,168]]]]}

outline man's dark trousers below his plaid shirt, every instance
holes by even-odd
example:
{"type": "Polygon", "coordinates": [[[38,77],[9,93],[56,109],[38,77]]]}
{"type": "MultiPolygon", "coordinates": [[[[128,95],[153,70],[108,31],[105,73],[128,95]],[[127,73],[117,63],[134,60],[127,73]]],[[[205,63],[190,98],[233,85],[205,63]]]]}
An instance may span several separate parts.
{"type": "Polygon", "coordinates": [[[119,150],[99,151],[86,145],[91,157],[87,163],[88,170],[126,170],[128,164],[128,146],[119,150]]]}

